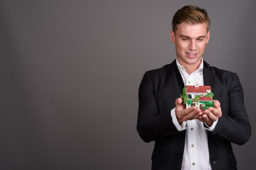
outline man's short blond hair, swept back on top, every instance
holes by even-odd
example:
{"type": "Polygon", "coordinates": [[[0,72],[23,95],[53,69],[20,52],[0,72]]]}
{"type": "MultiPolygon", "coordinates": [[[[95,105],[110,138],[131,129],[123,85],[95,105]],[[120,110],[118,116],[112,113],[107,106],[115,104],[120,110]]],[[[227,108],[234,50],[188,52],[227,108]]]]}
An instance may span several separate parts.
{"type": "Polygon", "coordinates": [[[211,21],[207,14],[208,13],[205,9],[196,7],[194,5],[186,5],[182,7],[182,9],[179,9],[173,16],[173,32],[175,33],[177,30],[177,25],[182,22],[192,25],[206,23],[208,32],[211,21]]]}

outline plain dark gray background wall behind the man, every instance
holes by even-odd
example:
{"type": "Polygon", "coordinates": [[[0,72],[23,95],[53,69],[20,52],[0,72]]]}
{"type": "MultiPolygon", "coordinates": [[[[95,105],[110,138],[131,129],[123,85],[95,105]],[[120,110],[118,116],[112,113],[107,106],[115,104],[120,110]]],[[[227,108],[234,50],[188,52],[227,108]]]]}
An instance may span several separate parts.
{"type": "Polygon", "coordinates": [[[254,0],[0,0],[0,169],[149,170],[138,87],[175,58],[171,20],[186,4],[211,18],[204,60],[240,77],[252,137],[233,146],[253,169],[254,0]]]}

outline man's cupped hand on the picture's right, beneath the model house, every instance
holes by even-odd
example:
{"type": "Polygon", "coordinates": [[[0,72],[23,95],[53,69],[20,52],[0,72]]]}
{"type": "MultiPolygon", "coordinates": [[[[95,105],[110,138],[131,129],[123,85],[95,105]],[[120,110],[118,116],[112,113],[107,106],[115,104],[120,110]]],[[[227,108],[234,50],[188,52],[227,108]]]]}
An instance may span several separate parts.
{"type": "Polygon", "coordinates": [[[209,126],[211,126],[213,122],[222,116],[220,102],[218,100],[212,101],[214,107],[209,107],[208,109],[204,110],[202,116],[198,117],[198,120],[207,123],[209,126]]]}

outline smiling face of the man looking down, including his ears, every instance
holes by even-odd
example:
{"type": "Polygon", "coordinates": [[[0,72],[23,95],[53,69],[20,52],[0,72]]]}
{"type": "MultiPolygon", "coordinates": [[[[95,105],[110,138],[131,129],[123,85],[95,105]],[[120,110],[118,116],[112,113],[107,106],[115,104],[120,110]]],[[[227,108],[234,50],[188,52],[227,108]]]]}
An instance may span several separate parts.
{"type": "Polygon", "coordinates": [[[209,37],[205,23],[191,25],[182,22],[177,25],[176,33],[171,31],[171,41],[175,44],[179,63],[185,68],[198,68],[209,37]]]}

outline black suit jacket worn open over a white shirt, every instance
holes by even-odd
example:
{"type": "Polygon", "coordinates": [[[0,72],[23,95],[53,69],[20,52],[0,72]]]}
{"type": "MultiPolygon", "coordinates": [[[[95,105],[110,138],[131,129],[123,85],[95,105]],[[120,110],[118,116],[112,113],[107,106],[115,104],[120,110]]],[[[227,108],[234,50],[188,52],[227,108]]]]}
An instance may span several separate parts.
{"type": "MultiPolygon", "coordinates": [[[[242,145],[251,134],[243,88],[236,73],[211,67],[204,61],[204,85],[220,102],[222,116],[213,132],[207,131],[212,170],[236,170],[230,142],[242,145]]],[[[139,86],[137,131],[144,142],[155,141],[152,170],[180,170],[186,131],[178,131],[171,118],[184,83],[176,61],[147,71],[139,86]]]]}

